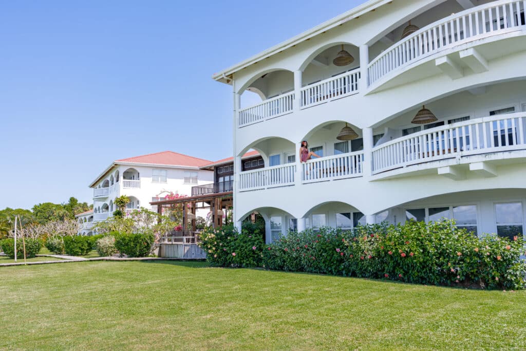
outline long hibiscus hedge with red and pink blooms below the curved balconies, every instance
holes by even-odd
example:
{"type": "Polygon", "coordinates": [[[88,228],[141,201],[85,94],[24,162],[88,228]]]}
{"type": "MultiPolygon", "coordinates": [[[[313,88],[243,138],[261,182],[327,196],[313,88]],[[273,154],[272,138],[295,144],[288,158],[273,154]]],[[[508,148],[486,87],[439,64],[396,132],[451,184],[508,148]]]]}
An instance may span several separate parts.
{"type": "Polygon", "coordinates": [[[269,269],[383,278],[409,283],[523,288],[522,239],[481,239],[444,220],[368,225],[342,232],[290,232],[264,250],[269,269]]]}

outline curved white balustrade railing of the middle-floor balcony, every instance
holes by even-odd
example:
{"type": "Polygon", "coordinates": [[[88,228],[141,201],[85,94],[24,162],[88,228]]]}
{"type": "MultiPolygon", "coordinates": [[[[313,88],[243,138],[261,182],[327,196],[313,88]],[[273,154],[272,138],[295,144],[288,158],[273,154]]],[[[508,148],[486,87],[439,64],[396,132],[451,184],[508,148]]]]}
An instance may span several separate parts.
{"type": "Polygon", "coordinates": [[[525,112],[447,124],[374,147],[373,173],[443,158],[517,149],[526,149],[525,112]]]}

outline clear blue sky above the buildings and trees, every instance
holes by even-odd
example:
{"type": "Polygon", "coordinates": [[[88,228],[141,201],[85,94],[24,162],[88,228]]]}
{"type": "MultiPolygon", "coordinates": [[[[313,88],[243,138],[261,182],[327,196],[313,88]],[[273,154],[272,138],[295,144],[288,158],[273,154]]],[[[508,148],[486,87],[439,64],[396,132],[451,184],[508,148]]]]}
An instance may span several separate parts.
{"type": "Polygon", "coordinates": [[[119,158],[231,156],[211,75],[363,2],[1,2],[0,209],[91,203],[119,158]]]}

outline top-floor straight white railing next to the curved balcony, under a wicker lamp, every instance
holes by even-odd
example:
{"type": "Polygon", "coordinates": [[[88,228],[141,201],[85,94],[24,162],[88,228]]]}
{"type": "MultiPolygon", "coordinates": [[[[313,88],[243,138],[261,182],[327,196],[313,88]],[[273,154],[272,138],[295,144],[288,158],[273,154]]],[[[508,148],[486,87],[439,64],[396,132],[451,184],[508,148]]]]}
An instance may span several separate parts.
{"type": "Polygon", "coordinates": [[[301,106],[309,107],[325,103],[331,99],[358,93],[360,71],[354,69],[345,74],[301,88],[301,106]]]}

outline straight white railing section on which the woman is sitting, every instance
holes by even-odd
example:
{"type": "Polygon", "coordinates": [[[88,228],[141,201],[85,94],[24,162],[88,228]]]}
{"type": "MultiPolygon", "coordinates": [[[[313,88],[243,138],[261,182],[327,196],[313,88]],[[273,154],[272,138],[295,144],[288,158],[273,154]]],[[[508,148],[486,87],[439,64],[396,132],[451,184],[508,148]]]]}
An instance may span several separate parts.
{"type": "Polygon", "coordinates": [[[363,151],[310,159],[301,167],[303,183],[359,177],[363,174],[363,151]]]}

